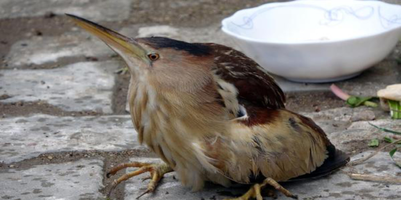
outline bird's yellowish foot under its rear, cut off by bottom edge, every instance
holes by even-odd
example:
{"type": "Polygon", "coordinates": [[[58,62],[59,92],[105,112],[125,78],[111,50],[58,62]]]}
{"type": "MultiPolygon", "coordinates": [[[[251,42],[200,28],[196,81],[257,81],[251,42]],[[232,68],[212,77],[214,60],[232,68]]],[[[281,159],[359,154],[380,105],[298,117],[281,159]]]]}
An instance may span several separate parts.
{"type": "Polygon", "coordinates": [[[235,198],[235,199],[227,199],[227,200],[249,200],[250,198],[256,198],[257,200],[263,200],[260,190],[261,190],[261,188],[263,188],[266,185],[273,186],[276,190],[279,190],[280,192],[282,192],[284,195],[286,195],[288,197],[298,199],[298,196],[293,195],[290,191],[286,190],[286,188],[284,188],[279,183],[277,183],[275,180],[273,180],[273,178],[266,178],[265,180],[263,180],[262,183],[254,184],[248,190],[248,192],[246,192],[242,196],[235,198]]]}

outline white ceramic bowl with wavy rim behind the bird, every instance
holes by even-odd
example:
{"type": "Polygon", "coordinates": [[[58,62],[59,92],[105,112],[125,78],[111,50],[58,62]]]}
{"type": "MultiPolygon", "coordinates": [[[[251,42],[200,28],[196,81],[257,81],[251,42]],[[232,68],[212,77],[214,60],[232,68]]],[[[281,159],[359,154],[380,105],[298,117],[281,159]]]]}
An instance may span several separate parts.
{"type": "Polygon", "coordinates": [[[222,22],[267,71],[297,82],[351,78],[401,36],[401,6],[372,0],[297,0],[239,10],[222,22]]]}

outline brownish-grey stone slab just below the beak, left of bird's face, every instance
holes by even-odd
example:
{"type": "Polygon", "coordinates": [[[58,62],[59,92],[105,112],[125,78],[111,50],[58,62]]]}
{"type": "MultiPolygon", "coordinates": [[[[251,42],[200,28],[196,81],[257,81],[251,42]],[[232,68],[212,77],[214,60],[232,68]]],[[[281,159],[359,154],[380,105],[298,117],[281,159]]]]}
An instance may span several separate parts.
{"type": "Polygon", "coordinates": [[[111,54],[114,52],[101,40],[77,31],[67,32],[59,37],[37,36],[29,40],[20,40],[12,45],[6,62],[7,68],[18,68],[57,62],[60,58],[101,58],[111,54]]]}

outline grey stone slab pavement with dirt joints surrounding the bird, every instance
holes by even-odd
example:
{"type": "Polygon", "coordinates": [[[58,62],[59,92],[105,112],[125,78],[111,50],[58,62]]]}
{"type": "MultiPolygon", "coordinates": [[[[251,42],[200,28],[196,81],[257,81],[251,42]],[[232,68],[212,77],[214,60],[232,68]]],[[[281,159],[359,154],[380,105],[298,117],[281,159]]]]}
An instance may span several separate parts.
{"type": "MultiPolygon", "coordinates": [[[[83,16],[128,36],[168,36],[237,48],[220,31],[220,20],[268,1],[0,1],[0,199],[105,199],[107,185],[123,174],[106,178],[111,166],[129,160],[159,162],[138,144],[125,110],[129,76],[114,73],[124,64],[63,13],[83,16]]],[[[373,68],[336,84],[351,94],[375,95],[377,89],[401,82],[396,61],[400,57],[398,44],[373,68]]],[[[329,92],[330,84],[294,83],[280,77],[277,82],[288,95],[290,110],[314,119],[352,159],[376,149],[367,146],[371,139],[379,138],[383,146],[383,137],[391,136],[369,123],[401,130],[400,122],[379,109],[345,106],[329,92]]],[[[355,170],[401,178],[400,168],[387,152],[355,170]]],[[[117,186],[111,199],[136,198],[146,189],[146,182],[139,179],[143,176],[117,186]]],[[[352,180],[342,171],[284,186],[302,200],[401,199],[399,184],[352,180]]],[[[173,172],[154,194],[142,199],[214,200],[238,196],[246,189],[207,184],[204,190],[191,192],[173,172]]],[[[278,199],[289,198],[278,194],[278,199]]]]}

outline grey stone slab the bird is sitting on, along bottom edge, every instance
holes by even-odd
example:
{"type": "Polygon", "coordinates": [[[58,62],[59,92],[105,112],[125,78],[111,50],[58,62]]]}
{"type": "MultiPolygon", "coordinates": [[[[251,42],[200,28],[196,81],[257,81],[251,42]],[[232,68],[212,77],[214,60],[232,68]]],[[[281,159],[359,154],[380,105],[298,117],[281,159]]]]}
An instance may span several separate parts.
{"type": "MultiPolygon", "coordinates": [[[[354,159],[367,156],[370,153],[364,152],[355,156],[354,159]]],[[[158,159],[132,158],[131,161],[157,162],[158,159]]],[[[377,154],[365,164],[356,166],[355,169],[359,173],[377,176],[397,177],[397,173],[399,173],[399,168],[393,164],[387,152],[377,154]]],[[[138,177],[130,178],[126,182],[126,200],[134,199],[146,190],[147,182],[142,182],[141,178],[147,175],[142,174],[138,177]]],[[[146,194],[142,198],[152,200],[221,200],[242,195],[249,189],[249,186],[224,188],[214,184],[207,184],[203,190],[191,192],[190,188],[184,188],[179,180],[174,179],[173,176],[174,172],[166,174],[156,192],[146,194]]],[[[297,194],[299,199],[302,200],[388,200],[401,198],[401,191],[397,184],[352,180],[341,171],[316,180],[283,183],[283,186],[297,194]]],[[[278,200],[290,199],[278,192],[276,194],[278,195],[278,200]]]]}

